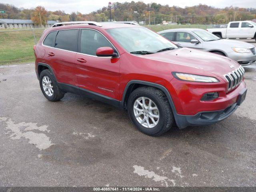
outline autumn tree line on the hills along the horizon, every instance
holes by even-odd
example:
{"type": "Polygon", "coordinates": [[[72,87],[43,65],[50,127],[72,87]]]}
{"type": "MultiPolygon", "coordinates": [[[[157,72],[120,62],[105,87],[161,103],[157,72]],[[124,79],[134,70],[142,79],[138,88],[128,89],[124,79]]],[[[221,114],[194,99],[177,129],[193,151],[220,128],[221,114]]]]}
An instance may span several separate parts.
{"type": "MultiPolygon", "coordinates": [[[[66,21],[97,21],[110,20],[108,6],[89,14],[72,12],[66,14],[62,10],[47,11],[42,6],[32,9],[17,8],[10,4],[1,4],[0,10],[6,12],[2,17],[9,19],[31,19],[36,24],[43,25],[47,20],[66,21]]],[[[256,18],[255,8],[226,7],[215,8],[199,4],[197,6],[180,8],[178,6],[161,5],[157,3],[145,4],[144,2],[115,2],[111,7],[112,20],[137,21],[145,24],[160,24],[163,20],[177,22],[178,24],[226,24],[233,20],[252,20],[256,18]]],[[[1,17],[1,15],[0,15],[1,17]]]]}

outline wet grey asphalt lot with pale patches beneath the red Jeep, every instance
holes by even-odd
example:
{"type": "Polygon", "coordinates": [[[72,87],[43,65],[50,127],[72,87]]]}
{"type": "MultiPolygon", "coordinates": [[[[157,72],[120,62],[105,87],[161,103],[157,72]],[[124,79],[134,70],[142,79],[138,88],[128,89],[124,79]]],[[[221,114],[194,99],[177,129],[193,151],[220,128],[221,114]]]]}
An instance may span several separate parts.
{"type": "Polygon", "coordinates": [[[49,102],[33,63],[0,66],[0,186],[256,186],[256,65],[245,71],[232,116],[150,137],[108,104],[49,102]]]}

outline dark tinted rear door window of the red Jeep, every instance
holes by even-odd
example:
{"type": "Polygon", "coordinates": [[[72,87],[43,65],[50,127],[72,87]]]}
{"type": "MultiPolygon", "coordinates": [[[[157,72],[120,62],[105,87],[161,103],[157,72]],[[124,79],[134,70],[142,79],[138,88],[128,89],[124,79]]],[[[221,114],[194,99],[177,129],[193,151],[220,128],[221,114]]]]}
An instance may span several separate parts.
{"type": "Polygon", "coordinates": [[[55,47],[77,52],[78,29],[60,30],[56,36],[55,47]]]}

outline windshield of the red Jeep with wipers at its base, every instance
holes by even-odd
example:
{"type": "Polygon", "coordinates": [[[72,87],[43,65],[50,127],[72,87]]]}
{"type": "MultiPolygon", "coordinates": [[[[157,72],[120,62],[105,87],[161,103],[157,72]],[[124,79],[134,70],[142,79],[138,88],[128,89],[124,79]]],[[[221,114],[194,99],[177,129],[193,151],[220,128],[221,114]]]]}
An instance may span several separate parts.
{"type": "Polygon", "coordinates": [[[107,31],[129,53],[155,53],[165,48],[177,48],[166,38],[144,27],[114,28],[107,31]]]}

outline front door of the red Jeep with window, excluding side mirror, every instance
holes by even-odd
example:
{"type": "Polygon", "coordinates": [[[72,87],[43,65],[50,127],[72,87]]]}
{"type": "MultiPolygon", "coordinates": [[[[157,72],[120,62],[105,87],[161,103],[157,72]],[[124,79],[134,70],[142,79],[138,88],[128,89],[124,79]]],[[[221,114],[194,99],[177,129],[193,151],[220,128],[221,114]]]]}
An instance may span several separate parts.
{"type": "Polygon", "coordinates": [[[96,56],[96,49],[100,47],[111,47],[118,54],[116,48],[99,31],[80,29],[76,54],[78,85],[85,91],[120,100],[120,59],[96,56]]]}

